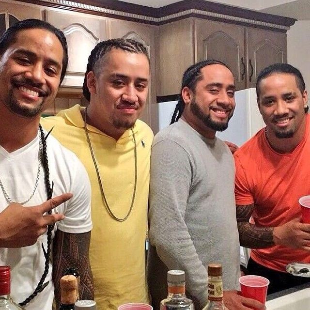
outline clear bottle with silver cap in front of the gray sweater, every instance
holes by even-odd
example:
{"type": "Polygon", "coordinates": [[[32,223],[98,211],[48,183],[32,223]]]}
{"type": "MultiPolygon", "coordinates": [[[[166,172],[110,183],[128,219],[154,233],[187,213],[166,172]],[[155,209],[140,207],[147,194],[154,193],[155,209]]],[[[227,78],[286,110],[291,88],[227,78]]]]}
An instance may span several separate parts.
{"type": "Polygon", "coordinates": [[[193,302],[185,295],[185,272],[169,270],[168,297],[160,302],[160,310],[194,310],[193,302]]]}

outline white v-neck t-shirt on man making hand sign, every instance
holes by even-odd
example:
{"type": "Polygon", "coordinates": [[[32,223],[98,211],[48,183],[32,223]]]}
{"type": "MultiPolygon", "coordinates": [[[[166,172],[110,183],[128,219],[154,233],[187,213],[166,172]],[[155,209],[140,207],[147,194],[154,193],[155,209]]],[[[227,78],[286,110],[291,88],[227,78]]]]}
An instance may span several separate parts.
{"type": "MultiPolygon", "coordinates": [[[[38,170],[39,135],[38,132],[34,140],[12,153],[8,153],[0,146],[0,179],[9,197],[15,202],[27,200],[33,191],[38,170]]],[[[65,233],[91,231],[91,187],[84,166],[75,154],[64,148],[51,135],[47,138],[47,158],[50,184],[54,182],[53,197],[67,192],[73,194],[69,201],[53,210],[53,213],[64,214],[65,218],[55,225],[52,237],[56,229],[65,233]]],[[[41,166],[38,188],[30,202],[24,205],[25,207],[38,205],[47,200],[44,176],[44,169],[41,166]]],[[[8,204],[0,188],[0,212],[8,204]]],[[[46,233],[30,247],[0,248],[0,265],[11,266],[11,296],[17,303],[32,294],[41,279],[45,263],[42,244],[47,249],[46,233]]],[[[49,280],[49,284],[34,297],[25,307],[26,309],[50,310],[52,308],[54,284],[51,271],[50,262],[45,279],[45,282],[49,280]]]]}

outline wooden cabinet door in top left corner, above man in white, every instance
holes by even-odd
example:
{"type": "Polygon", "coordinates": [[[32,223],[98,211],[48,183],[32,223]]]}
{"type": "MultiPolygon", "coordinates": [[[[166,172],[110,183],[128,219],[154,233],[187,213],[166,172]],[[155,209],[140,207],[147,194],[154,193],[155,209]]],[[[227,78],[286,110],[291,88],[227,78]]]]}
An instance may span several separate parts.
{"type": "Polygon", "coordinates": [[[31,5],[0,2],[0,36],[19,20],[41,18],[41,10],[31,5]]]}

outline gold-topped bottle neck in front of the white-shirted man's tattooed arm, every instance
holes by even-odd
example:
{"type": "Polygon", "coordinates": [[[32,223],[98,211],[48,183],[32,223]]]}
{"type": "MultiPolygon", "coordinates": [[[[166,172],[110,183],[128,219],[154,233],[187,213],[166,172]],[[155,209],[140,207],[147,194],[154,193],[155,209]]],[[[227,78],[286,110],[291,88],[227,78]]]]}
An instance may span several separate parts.
{"type": "Polygon", "coordinates": [[[59,310],[74,310],[77,301],[78,280],[75,276],[63,276],[60,279],[61,304],[59,310]]]}

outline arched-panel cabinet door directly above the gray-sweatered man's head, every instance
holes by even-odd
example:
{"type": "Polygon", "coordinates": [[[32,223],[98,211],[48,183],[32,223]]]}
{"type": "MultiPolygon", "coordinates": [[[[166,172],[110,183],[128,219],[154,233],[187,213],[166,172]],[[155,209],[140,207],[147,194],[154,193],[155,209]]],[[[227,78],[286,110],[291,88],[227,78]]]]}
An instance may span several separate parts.
{"type": "Polygon", "coordinates": [[[244,57],[244,27],[205,19],[196,20],[197,59],[217,59],[232,70],[236,89],[244,89],[246,60],[244,57]]]}

